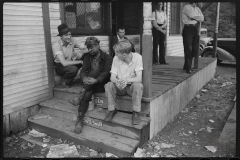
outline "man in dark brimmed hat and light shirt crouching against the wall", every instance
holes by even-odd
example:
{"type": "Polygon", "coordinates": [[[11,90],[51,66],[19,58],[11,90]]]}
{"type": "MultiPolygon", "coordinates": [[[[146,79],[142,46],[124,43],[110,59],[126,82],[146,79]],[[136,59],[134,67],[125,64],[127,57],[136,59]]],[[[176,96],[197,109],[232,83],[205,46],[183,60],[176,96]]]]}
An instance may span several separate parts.
{"type": "Polygon", "coordinates": [[[55,71],[63,79],[62,87],[69,88],[78,70],[82,67],[82,53],[74,52],[74,48],[81,48],[71,37],[71,31],[66,24],[58,26],[58,36],[61,38],[53,46],[55,71]]]}

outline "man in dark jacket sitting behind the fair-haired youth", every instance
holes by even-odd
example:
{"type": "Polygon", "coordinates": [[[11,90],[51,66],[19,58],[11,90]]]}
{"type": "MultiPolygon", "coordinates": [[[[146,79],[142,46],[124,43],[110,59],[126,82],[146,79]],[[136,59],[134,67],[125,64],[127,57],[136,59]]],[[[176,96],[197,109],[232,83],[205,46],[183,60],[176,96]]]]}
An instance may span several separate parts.
{"type": "MultiPolygon", "coordinates": [[[[111,41],[111,56],[114,57],[115,56],[115,51],[113,49],[113,46],[119,42],[119,41],[123,41],[123,40],[128,40],[127,37],[125,37],[125,28],[124,27],[119,27],[118,32],[117,32],[117,36],[113,36],[112,41],[111,41]]],[[[128,40],[129,41],[129,40],[128,40]]],[[[135,52],[134,49],[134,44],[129,41],[132,45],[132,51],[131,52],[135,52]]]]}

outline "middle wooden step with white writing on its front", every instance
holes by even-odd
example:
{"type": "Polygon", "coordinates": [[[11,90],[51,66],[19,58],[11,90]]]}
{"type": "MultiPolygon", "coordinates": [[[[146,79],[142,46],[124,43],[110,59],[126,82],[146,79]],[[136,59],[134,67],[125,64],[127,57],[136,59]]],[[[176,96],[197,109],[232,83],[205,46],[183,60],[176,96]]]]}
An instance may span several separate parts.
{"type": "MultiPolygon", "coordinates": [[[[57,118],[75,121],[77,119],[77,106],[73,106],[67,101],[51,99],[39,104],[43,113],[57,118]]],[[[116,133],[121,136],[133,138],[140,141],[140,145],[148,139],[148,130],[150,119],[140,116],[141,122],[138,125],[132,125],[132,114],[118,111],[112,122],[104,121],[108,113],[107,109],[96,107],[88,111],[84,117],[84,124],[90,127],[98,128],[108,132],[116,133]]]]}

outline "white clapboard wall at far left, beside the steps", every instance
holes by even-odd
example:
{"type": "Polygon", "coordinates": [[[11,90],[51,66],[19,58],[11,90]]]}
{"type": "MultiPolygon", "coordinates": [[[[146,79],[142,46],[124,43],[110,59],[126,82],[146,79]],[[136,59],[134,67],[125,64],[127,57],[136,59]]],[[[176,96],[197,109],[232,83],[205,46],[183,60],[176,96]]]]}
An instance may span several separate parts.
{"type": "Polygon", "coordinates": [[[3,115],[38,104],[48,95],[42,4],[4,3],[3,115]]]}

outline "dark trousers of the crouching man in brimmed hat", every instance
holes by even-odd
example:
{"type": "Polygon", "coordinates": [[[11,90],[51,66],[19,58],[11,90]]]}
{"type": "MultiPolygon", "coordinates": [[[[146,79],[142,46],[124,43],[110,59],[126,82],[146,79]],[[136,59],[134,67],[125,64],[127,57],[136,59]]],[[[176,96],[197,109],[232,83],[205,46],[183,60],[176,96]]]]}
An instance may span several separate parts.
{"type": "Polygon", "coordinates": [[[55,71],[61,76],[65,84],[70,85],[77,75],[78,70],[82,67],[82,64],[71,65],[64,67],[61,63],[55,63],[55,71]]]}

